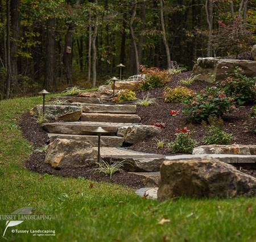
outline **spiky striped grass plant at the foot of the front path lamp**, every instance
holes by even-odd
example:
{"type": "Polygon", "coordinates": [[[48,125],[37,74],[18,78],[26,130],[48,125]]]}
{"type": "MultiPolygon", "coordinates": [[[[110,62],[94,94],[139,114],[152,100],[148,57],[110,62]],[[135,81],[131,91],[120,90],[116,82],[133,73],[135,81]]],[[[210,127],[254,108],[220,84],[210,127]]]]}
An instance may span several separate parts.
{"type": "Polygon", "coordinates": [[[123,171],[122,167],[125,164],[125,160],[117,161],[117,162],[105,162],[105,160],[101,160],[100,162],[96,162],[98,165],[97,168],[90,169],[90,171],[101,173],[103,172],[106,175],[110,175],[110,179],[112,175],[117,171],[123,171]]]}

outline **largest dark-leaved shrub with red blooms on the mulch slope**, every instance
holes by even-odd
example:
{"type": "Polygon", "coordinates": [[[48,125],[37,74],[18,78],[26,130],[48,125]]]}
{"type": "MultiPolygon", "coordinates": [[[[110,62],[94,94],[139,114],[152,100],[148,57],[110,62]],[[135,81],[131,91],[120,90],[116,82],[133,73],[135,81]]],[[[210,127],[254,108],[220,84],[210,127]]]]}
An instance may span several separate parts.
{"type": "Polygon", "coordinates": [[[191,121],[201,122],[209,116],[222,117],[236,109],[236,103],[232,97],[226,96],[220,88],[207,87],[197,92],[194,97],[185,97],[185,107],[182,112],[191,121]]]}

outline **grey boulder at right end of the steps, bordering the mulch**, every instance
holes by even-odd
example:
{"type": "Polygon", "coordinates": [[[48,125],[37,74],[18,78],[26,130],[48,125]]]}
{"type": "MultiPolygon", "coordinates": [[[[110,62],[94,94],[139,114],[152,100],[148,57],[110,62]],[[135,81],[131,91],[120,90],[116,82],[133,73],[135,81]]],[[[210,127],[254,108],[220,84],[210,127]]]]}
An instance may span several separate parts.
{"type": "Polygon", "coordinates": [[[117,136],[125,138],[125,143],[135,144],[143,139],[154,137],[161,131],[159,127],[151,125],[130,125],[118,128],[117,136]]]}

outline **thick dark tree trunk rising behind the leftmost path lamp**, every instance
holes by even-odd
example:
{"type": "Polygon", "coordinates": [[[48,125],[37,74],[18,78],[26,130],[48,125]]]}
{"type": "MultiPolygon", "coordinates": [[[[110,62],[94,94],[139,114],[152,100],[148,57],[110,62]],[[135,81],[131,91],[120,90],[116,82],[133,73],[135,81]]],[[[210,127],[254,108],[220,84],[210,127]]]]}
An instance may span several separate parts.
{"type": "Polygon", "coordinates": [[[56,18],[49,18],[47,20],[47,34],[46,34],[46,58],[45,58],[45,72],[44,72],[44,89],[52,90],[56,83],[55,73],[55,27],[56,18]]]}

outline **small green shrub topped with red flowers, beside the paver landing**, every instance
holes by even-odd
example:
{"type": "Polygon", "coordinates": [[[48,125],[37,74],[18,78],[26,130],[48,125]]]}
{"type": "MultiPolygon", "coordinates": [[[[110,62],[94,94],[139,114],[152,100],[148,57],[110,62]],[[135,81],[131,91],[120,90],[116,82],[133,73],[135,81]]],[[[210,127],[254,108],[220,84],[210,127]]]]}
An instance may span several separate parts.
{"type": "Polygon", "coordinates": [[[168,143],[172,153],[189,153],[192,154],[193,148],[197,146],[197,141],[191,137],[191,131],[184,127],[176,129],[176,139],[168,143]]]}

